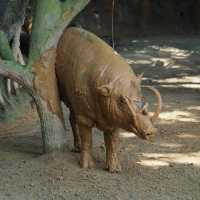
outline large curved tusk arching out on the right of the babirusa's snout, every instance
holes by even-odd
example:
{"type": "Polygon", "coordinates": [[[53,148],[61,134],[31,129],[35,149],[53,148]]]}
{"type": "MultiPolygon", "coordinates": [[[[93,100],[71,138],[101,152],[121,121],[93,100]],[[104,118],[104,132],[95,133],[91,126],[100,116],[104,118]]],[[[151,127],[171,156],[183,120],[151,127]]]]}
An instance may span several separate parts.
{"type": "Polygon", "coordinates": [[[158,116],[161,112],[161,109],[162,109],[162,98],[161,98],[160,92],[152,86],[142,86],[142,87],[151,90],[156,95],[158,104],[156,107],[156,111],[154,112],[153,116],[151,117],[151,121],[154,122],[158,118],[158,116]]]}

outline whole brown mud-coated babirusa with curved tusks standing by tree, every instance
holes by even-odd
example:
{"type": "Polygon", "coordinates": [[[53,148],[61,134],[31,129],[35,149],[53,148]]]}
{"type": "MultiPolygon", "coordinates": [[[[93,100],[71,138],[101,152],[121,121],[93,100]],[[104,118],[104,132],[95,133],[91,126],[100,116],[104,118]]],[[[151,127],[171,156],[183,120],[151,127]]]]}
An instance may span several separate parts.
{"type": "Polygon", "coordinates": [[[141,77],[109,45],[78,28],[66,29],[59,41],[56,74],[61,99],[70,109],[75,150],[81,150],[81,167],[94,165],[92,128],[97,127],[104,132],[107,169],[120,171],[116,130],[135,132],[143,139],[154,134],[152,121],[161,109],[158,91],[149,87],[158,98],[152,118],[141,94],[141,77]]]}

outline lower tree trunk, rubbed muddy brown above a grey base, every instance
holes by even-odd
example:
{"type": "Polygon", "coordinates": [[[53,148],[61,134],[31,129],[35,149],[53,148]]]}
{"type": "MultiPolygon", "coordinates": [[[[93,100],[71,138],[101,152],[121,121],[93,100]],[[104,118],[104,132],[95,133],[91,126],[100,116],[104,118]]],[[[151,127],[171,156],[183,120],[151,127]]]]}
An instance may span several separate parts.
{"type": "Polygon", "coordinates": [[[49,49],[33,64],[33,87],[41,97],[47,118],[43,123],[48,127],[44,137],[45,151],[62,150],[66,144],[64,119],[55,75],[56,49],[49,49]]]}

